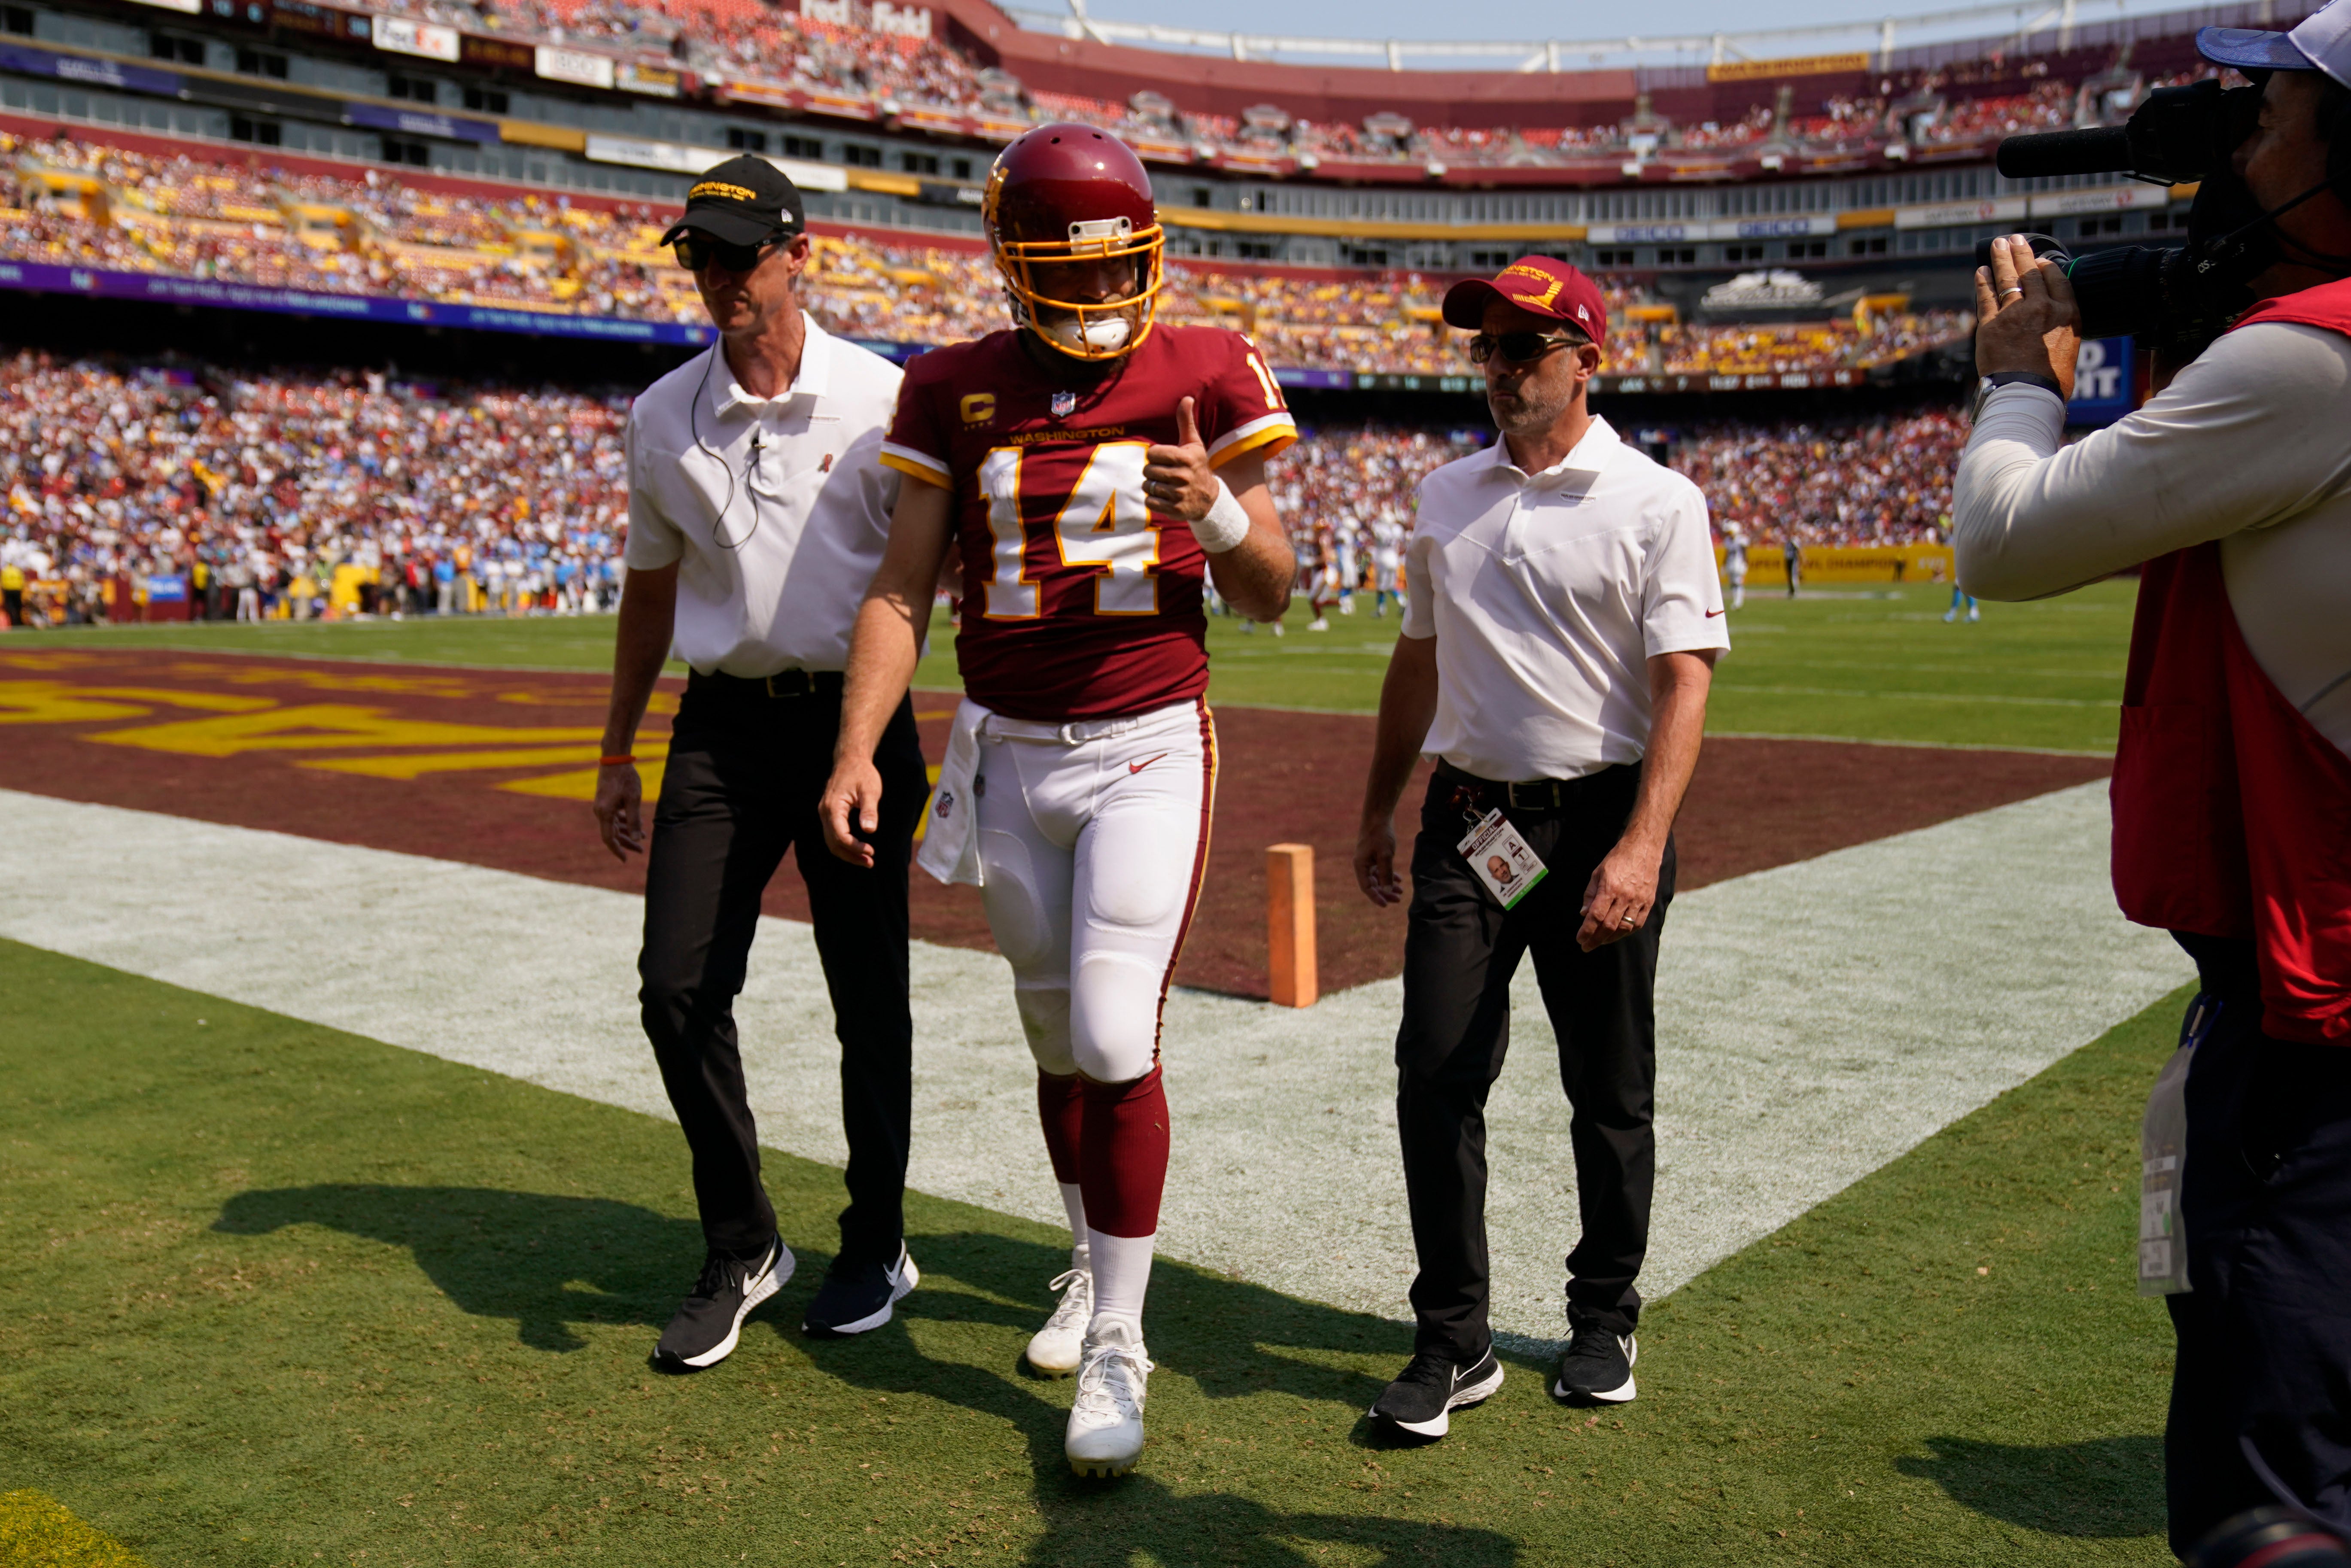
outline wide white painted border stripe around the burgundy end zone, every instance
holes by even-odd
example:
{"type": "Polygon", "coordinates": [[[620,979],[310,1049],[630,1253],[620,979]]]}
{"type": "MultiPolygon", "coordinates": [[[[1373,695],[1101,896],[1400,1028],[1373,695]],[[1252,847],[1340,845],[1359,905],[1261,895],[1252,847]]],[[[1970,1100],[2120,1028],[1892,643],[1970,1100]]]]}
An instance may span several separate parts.
{"type": "MultiPolygon", "coordinates": [[[[632,896],[40,795],[0,792],[0,936],[670,1117],[637,1030],[632,896]]],[[[2114,910],[2104,785],[1683,893],[1660,966],[1643,1293],[1665,1295],[2186,978],[2163,933],[2114,910]]],[[[1307,1011],[1168,999],[1164,1253],[1408,1316],[1399,997],[1399,980],[1378,980],[1307,1011]]],[[[832,1009],[806,926],[762,922],[738,1020],[762,1143],[839,1164],[832,1009]]],[[[1552,1340],[1575,1190],[1531,966],[1512,1032],[1516,1063],[1488,1110],[1493,1316],[1552,1340]]],[[[917,943],[915,1039],[912,1185],[1060,1225],[1002,961],[917,943]]]]}

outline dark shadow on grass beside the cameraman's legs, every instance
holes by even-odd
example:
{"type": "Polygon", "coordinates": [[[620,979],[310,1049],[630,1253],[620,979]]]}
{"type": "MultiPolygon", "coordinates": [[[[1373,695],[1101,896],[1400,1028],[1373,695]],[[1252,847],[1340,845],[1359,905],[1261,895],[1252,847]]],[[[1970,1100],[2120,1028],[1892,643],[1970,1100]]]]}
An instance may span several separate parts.
{"type": "Polygon", "coordinates": [[[1928,1455],[1897,1458],[1895,1469],[1933,1481],[1963,1509],[2076,1540],[2163,1530],[2161,1436],[2097,1436],[2055,1448],[1930,1436],[1925,1446],[1928,1455]]]}

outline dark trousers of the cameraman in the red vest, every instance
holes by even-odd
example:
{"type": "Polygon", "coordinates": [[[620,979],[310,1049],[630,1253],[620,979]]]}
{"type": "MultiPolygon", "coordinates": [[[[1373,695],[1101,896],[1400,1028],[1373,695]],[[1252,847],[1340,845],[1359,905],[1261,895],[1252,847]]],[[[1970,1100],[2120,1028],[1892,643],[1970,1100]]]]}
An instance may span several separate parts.
{"type": "Polygon", "coordinates": [[[2285,1502],[2351,1533],[2351,1051],[2262,1032],[2252,943],[2182,936],[2222,1011],[2186,1084],[2172,1552],[2285,1502]]]}

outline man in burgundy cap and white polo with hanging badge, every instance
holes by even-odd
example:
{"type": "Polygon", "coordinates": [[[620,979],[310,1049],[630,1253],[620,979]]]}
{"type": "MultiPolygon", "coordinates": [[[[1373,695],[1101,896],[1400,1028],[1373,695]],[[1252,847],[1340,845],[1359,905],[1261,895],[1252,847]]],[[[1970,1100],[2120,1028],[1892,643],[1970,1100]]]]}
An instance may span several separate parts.
{"type": "Polygon", "coordinates": [[[1371,1410],[1420,1439],[1502,1385],[1486,1321],[1486,1091],[1521,954],[1559,1034],[1582,1208],[1552,1394],[1634,1396],[1634,1276],[1657,1164],[1657,936],[1674,813],[1714,656],[1730,646],[1704,498],[1587,407],[1608,341],[1599,287],[1526,256],[1493,282],[1455,284],[1444,317],[1476,329],[1469,357],[1502,440],[1420,482],[1354,853],[1373,903],[1404,898],[1396,802],[1415,759],[1434,755],[1396,1032],[1418,1331],[1411,1366],[1371,1410]]]}

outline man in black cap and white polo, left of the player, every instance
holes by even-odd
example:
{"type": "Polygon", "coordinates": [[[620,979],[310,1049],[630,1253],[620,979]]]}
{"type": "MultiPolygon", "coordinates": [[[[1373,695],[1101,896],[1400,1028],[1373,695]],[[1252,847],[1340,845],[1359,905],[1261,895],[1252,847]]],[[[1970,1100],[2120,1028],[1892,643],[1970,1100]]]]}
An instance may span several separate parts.
{"type": "Polygon", "coordinates": [[[797,851],[842,1041],[849,1208],[809,1333],[889,1321],[915,1286],[903,1197],[915,1025],[905,875],[929,776],[912,703],[875,766],[886,804],[875,865],[825,851],[816,797],[832,771],[849,625],[882,562],[898,475],[882,433],[898,369],[799,308],[809,266],[799,190],[759,158],[708,169],[663,235],[694,270],[719,343],[656,381],[628,418],[628,581],[595,813],[607,849],[647,849],[632,745],[675,646],[677,705],[644,884],[644,1032],[694,1152],[708,1258],[654,1361],[696,1371],[792,1276],[759,1185],[734,997],[759,893],[797,851]]]}

